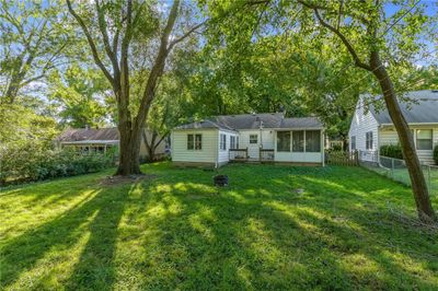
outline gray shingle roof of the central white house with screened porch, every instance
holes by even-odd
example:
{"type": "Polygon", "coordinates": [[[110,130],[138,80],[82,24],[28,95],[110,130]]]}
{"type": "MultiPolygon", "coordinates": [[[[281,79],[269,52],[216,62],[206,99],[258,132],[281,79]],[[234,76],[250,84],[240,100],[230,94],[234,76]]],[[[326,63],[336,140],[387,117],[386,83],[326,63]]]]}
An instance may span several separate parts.
{"type": "Polygon", "coordinates": [[[316,117],[284,118],[280,113],[221,115],[176,127],[175,129],[218,128],[228,130],[263,128],[323,128],[316,117]]]}

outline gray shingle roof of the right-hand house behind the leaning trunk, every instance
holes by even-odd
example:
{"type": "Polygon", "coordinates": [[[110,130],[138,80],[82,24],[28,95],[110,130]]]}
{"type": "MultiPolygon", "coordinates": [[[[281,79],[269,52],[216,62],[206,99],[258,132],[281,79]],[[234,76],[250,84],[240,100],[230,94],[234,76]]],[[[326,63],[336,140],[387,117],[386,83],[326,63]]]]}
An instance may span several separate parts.
{"type": "MultiPolygon", "coordinates": [[[[423,90],[408,92],[406,97],[413,103],[400,103],[402,113],[408,124],[438,124],[438,91],[423,90]]],[[[370,112],[379,124],[392,124],[387,109],[377,112],[370,106],[370,112]]]]}

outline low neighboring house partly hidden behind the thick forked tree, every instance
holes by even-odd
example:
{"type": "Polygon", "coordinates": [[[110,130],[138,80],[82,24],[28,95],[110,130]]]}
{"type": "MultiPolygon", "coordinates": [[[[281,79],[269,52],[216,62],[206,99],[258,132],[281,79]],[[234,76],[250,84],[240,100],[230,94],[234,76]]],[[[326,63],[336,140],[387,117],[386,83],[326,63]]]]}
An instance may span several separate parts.
{"type": "MultiPolygon", "coordinates": [[[[148,142],[150,142],[152,133],[145,129],[148,142]]],[[[158,138],[160,140],[160,138],[158,138]]],[[[58,148],[70,147],[82,152],[106,152],[113,147],[118,147],[119,135],[116,127],[113,128],[76,128],[65,130],[56,140],[55,144],[58,148]]],[[[164,155],[166,142],[163,140],[155,149],[155,158],[164,155]]],[[[141,138],[140,158],[148,159],[149,156],[145,139],[141,138]]]]}

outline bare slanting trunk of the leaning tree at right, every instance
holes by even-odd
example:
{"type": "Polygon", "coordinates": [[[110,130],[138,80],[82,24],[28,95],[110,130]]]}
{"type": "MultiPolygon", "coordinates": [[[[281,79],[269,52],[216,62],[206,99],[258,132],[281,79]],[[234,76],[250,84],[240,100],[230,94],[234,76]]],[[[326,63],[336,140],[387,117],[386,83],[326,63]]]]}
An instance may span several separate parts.
{"type": "Polygon", "coordinates": [[[403,158],[411,177],[412,189],[414,191],[415,203],[418,217],[424,222],[436,220],[436,214],[430,203],[426,179],[423,175],[422,165],[415,151],[414,139],[403,113],[396,100],[395,90],[377,53],[371,54],[370,65],[373,74],[378,78],[383,93],[384,102],[395,130],[399,133],[400,143],[403,150],[403,158]]]}

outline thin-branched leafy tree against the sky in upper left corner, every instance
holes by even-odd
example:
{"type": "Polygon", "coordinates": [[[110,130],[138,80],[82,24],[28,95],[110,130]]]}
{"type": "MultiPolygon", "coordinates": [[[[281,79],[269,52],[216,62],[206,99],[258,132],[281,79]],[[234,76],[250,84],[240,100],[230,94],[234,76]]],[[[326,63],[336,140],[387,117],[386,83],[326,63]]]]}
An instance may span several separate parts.
{"type": "Polygon", "coordinates": [[[0,103],[13,104],[23,88],[64,63],[71,35],[57,1],[0,1],[0,103]]]}

